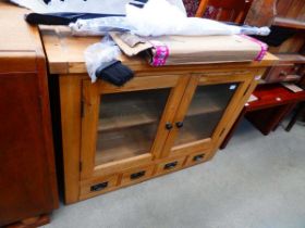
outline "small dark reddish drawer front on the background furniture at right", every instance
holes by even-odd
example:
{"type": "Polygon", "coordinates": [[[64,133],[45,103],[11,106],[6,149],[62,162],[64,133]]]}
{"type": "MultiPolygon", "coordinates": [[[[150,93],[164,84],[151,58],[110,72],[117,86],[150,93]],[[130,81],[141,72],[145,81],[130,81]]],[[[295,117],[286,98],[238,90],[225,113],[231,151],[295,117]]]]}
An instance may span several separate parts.
{"type": "Polygon", "coordinates": [[[265,77],[265,80],[267,83],[284,81],[289,75],[295,75],[296,71],[294,65],[273,66],[265,77]]]}

